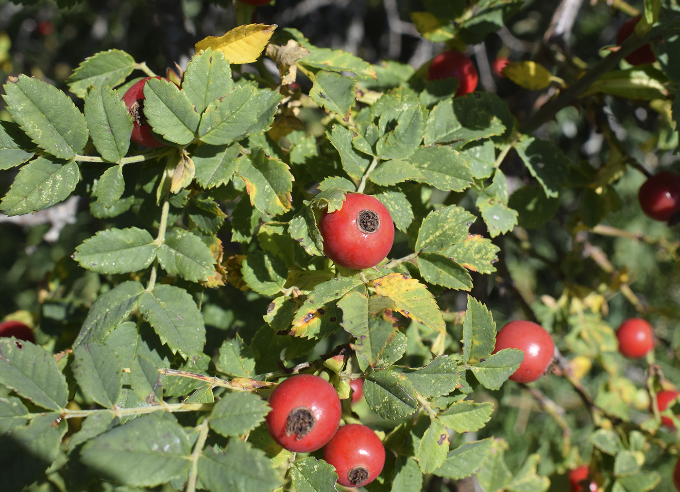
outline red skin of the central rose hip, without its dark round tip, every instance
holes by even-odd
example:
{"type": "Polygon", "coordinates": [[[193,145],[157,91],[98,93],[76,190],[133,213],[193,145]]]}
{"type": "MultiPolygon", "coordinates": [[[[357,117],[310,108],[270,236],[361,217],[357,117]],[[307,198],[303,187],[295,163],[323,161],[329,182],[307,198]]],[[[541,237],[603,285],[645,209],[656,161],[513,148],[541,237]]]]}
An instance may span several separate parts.
{"type": "MultiPolygon", "coordinates": [[[[375,217],[373,215],[373,217],[375,217]]],[[[362,193],[347,193],[340,210],[324,210],[319,220],[324,253],[340,266],[363,270],[385,259],[394,242],[394,223],[385,205],[362,193]],[[358,218],[363,211],[379,217],[373,232],[362,231],[358,218]]]]}

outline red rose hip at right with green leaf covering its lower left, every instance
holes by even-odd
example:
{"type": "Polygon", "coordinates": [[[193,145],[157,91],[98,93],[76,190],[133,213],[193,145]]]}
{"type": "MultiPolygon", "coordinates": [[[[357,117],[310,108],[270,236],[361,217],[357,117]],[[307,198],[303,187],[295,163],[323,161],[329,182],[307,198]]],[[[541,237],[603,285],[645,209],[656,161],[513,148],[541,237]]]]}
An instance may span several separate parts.
{"type": "Polygon", "coordinates": [[[517,383],[536,381],[550,365],[555,343],[543,327],[532,321],[510,321],[496,334],[496,353],[502,349],[520,349],[524,360],[509,379],[517,383]]]}

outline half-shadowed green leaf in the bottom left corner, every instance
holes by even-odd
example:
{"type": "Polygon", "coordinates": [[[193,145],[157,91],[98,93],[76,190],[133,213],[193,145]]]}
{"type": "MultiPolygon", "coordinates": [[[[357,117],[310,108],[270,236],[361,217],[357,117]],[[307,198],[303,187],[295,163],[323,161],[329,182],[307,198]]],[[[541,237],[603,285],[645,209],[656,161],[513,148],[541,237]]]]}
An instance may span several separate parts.
{"type": "Polygon", "coordinates": [[[37,415],[29,425],[0,434],[3,492],[20,492],[35,480],[44,479],[68,429],[66,419],[60,420],[58,412],[37,415]]]}

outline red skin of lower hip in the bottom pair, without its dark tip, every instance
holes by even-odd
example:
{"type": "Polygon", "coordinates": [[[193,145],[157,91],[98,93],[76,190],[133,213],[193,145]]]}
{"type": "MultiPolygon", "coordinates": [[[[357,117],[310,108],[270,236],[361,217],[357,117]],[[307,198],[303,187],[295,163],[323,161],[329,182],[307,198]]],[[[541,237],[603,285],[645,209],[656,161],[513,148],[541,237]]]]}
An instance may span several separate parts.
{"type": "Polygon", "coordinates": [[[380,474],[385,465],[385,448],[369,427],[358,423],[343,425],[324,446],[326,463],[335,467],[338,483],[345,487],[362,487],[380,474]],[[367,478],[352,482],[350,472],[361,467],[367,478]]]}

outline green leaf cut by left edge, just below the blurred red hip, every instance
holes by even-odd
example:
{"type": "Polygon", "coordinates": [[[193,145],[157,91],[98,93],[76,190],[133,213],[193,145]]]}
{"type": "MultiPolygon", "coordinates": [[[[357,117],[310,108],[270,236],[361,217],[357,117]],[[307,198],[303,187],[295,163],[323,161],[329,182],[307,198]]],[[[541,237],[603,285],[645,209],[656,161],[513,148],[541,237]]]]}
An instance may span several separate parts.
{"type": "Polygon", "coordinates": [[[0,338],[0,383],[50,410],[61,410],[68,402],[66,379],[54,357],[31,342],[0,338]]]}

